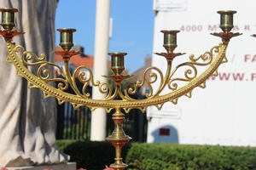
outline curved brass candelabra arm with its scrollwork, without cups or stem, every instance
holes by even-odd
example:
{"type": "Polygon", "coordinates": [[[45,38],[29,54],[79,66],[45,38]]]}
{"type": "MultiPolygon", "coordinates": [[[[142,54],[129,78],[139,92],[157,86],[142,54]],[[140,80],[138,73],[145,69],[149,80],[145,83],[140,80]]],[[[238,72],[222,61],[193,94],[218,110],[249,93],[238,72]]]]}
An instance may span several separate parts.
{"type": "MultiPolygon", "coordinates": [[[[172,62],[167,61],[167,71],[166,71],[166,76],[163,76],[163,73],[160,71],[160,69],[156,67],[149,67],[145,72],[144,75],[146,74],[147,71],[149,70],[154,70],[159,73],[157,75],[156,73],[152,72],[151,73],[151,79],[148,79],[146,76],[143,79],[143,82],[137,82],[137,83],[129,83],[126,85],[125,88],[125,94],[122,94],[120,92],[120,82],[127,77],[131,76],[109,76],[109,78],[113,78],[117,88],[113,95],[110,95],[112,92],[112,87],[109,85],[108,82],[94,82],[93,81],[93,74],[92,71],[90,71],[89,68],[85,66],[80,66],[78,67],[73,75],[70,74],[69,72],[69,67],[67,64],[65,64],[65,71],[59,66],[55,65],[53,63],[45,61],[45,56],[41,55],[41,58],[38,58],[35,54],[32,52],[27,52],[24,50],[24,48],[20,47],[19,45],[15,45],[11,42],[6,42],[7,47],[9,50],[9,56],[7,60],[11,63],[13,63],[17,69],[17,75],[25,77],[29,82],[30,82],[30,88],[41,88],[44,92],[45,97],[49,96],[55,96],[58,100],[59,103],[63,103],[64,101],[71,102],[74,106],[74,108],[79,107],[80,105],[87,105],[91,109],[97,108],[98,105],[101,105],[101,107],[104,107],[107,109],[107,111],[110,111],[112,108],[116,108],[117,103],[119,107],[124,108],[125,111],[130,111],[131,108],[139,108],[142,111],[145,110],[145,108],[150,105],[155,105],[157,108],[160,109],[161,105],[164,103],[171,101],[172,103],[177,103],[177,99],[181,97],[182,95],[187,95],[190,96],[191,91],[195,87],[205,87],[205,82],[207,80],[207,77],[212,76],[217,76],[218,75],[218,65],[227,62],[227,59],[225,58],[225,51],[227,48],[227,45],[220,44],[217,47],[214,47],[210,50],[210,52],[206,52],[204,54],[201,54],[198,58],[195,58],[194,55],[190,55],[189,62],[177,65],[177,67],[171,71],[171,66],[172,62]],[[212,59],[213,56],[213,50],[217,53],[216,59],[212,59]],[[18,54],[20,53],[21,59],[19,58],[18,54]],[[27,62],[27,60],[36,60],[35,62],[27,62]],[[204,62],[199,62],[198,60],[203,60],[204,62]],[[197,76],[197,69],[196,65],[201,65],[201,66],[207,66],[210,65],[209,68],[204,71],[200,76],[197,76]],[[38,75],[32,74],[30,71],[27,70],[27,66],[38,66],[38,75]],[[46,66],[55,66],[59,69],[59,71],[63,74],[64,78],[52,78],[49,70],[44,68],[46,66]],[[180,77],[174,77],[175,72],[184,66],[189,66],[190,69],[184,71],[184,78],[180,77]],[[87,79],[84,79],[84,72],[79,72],[80,69],[86,68],[90,72],[90,77],[87,79]],[[79,90],[76,88],[75,85],[75,75],[79,73],[79,81],[84,82],[84,87],[83,87],[83,92],[80,93],[79,90]],[[193,74],[194,73],[194,74],[193,74]],[[152,88],[152,84],[157,80],[158,76],[160,77],[160,88],[156,90],[156,93],[154,94],[154,90],[152,88]],[[177,86],[177,81],[183,81],[183,82],[189,82],[188,84],[184,85],[183,87],[178,87],[177,86]],[[49,85],[47,82],[59,82],[57,88],[52,87],[49,85]],[[108,86],[109,92],[108,96],[106,99],[102,100],[94,100],[90,99],[90,94],[86,94],[86,87],[90,85],[90,82],[94,86],[99,86],[102,88],[104,85],[108,86]],[[141,100],[136,100],[131,99],[129,97],[129,94],[134,93],[134,89],[137,87],[143,86],[144,83],[148,83],[148,87],[150,90],[150,93],[147,94],[147,99],[141,99],[141,100]],[[65,90],[67,89],[68,86],[72,86],[73,91],[75,91],[75,94],[67,94],[65,90]],[[162,94],[160,95],[160,92],[162,91],[163,88],[168,86],[172,92],[168,94],[162,94]],[[132,87],[132,88],[131,88],[132,87]],[[133,92],[132,92],[133,90],[133,92]],[[114,97],[119,94],[119,96],[122,98],[122,100],[114,100],[114,97]],[[113,105],[115,105],[113,107],[113,105]]],[[[66,62],[66,61],[64,61],[66,62]]],[[[107,93],[107,90],[102,90],[102,93],[107,93]]]]}

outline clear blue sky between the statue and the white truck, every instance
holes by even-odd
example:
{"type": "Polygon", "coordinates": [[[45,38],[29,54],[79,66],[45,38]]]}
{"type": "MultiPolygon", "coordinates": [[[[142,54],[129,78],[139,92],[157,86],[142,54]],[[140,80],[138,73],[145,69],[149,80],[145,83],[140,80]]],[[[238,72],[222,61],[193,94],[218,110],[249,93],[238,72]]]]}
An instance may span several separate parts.
{"type": "MultiPolygon", "coordinates": [[[[108,52],[125,52],[125,69],[137,71],[146,55],[152,56],[154,11],[153,0],[112,0],[110,17],[113,18],[113,36],[108,52]]],[[[55,28],[75,28],[74,42],[94,55],[96,0],[60,0],[55,28]]],[[[56,45],[60,41],[56,31],[56,45]]]]}

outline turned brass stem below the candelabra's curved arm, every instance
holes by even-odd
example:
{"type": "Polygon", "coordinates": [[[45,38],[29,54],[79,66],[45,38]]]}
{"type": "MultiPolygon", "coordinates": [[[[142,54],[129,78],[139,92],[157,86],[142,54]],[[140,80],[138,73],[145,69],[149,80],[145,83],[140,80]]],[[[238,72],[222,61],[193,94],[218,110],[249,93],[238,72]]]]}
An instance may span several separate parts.
{"type": "Polygon", "coordinates": [[[114,163],[109,167],[112,167],[115,170],[123,170],[128,167],[128,165],[122,161],[123,158],[121,157],[121,150],[125,143],[131,140],[131,137],[126,135],[125,131],[123,130],[122,123],[125,119],[125,115],[120,111],[120,108],[116,108],[112,119],[114,122],[114,130],[113,133],[108,136],[107,140],[108,142],[111,142],[115,147],[115,158],[114,163]]]}

